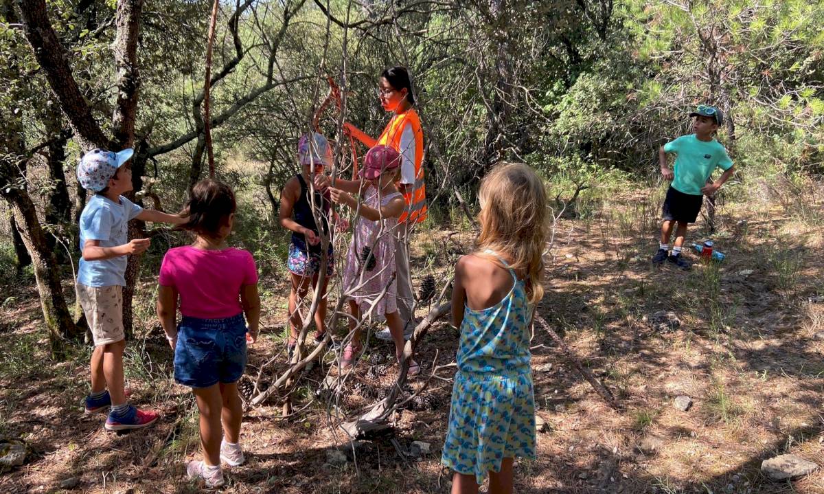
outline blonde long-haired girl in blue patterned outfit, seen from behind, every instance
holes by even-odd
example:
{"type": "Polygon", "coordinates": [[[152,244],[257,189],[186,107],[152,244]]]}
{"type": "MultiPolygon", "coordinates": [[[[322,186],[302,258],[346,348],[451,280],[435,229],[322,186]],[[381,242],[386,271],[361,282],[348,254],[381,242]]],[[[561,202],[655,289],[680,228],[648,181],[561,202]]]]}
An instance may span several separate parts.
{"type": "Polygon", "coordinates": [[[535,458],[529,351],[547,234],[546,191],[527,165],[494,168],[480,186],[480,237],[461,257],[452,323],[461,328],[442,463],[452,494],[513,492],[515,457],[535,458]]]}

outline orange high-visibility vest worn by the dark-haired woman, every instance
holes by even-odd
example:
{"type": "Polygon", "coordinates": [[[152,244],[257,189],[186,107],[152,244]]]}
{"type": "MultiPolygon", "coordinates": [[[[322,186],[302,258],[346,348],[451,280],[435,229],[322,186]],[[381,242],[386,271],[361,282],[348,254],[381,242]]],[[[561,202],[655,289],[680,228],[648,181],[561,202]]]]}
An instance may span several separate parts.
{"type": "Polygon", "coordinates": [[[414,134],[414,184],[412,191],[404,194],[406,209],[400,214],[399,223],[409,221],[410,223],[420,223],[426,219],[426,183],[424,182],[424,132],[420,128],[418,112],[413,108],[404,113],[396,113],[389,120],[386,129],[383,129],[381,137],[377,138],[378,144],[391,146],[400,154],[401,136],[406,125],[411,125],[414,134]]]}

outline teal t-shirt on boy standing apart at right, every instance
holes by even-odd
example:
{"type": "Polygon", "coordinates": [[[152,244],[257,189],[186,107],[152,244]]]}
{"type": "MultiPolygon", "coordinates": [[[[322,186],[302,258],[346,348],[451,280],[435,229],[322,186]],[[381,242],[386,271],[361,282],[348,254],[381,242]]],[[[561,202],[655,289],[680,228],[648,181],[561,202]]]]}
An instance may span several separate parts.
{"type": "Polygon", "coordinates": [[[733,166],[723,144],[715,139],[702,141],[695,134],[682,135],[664,144],[664,151],[678,155],[672,188],[684,194],[701,195],[701,187],[705,186],[715,167],[726,171],[733,166]]]}

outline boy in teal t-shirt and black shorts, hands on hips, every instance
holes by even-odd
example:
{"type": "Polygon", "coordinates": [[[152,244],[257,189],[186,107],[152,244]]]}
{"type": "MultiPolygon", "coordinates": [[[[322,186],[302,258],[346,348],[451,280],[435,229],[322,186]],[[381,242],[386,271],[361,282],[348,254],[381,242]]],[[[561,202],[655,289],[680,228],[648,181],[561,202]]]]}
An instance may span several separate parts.
{"type": "Polygon", "coordinates": [[[690,116],[695,117],[692,124],[695,134],[682,135],[658,149],[661,174],[665,179],[672,180],[672,184],[662,208],[661,242],[653,256],[653,264],[669,261],[683,270],[691,268],[690,263],[681,256],[686,225],[695,223],[704,203],[704,195],[713,195],[735,171],[727,149],[713,137],[723,123],[721,111],[714,106],[700,105],[690,116]],[[677,155],[674,172],[667,167],[667,153],[677,155]],[[723,174],[718,181],[708,181],[716,167],[721,168],[723,174]],[[672,244],[672,254],[669,254],[669,240],[675,223],[678,225],[676,238],[672,244]]]}

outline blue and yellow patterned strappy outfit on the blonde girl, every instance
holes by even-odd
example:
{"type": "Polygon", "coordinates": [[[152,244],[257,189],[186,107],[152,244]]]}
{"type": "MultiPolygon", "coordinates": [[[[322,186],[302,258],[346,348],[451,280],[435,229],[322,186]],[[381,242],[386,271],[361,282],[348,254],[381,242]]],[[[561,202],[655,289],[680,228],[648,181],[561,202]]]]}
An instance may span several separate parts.
{"type": "Polygon", "coordinates": [[[532,307],[523,280],[483,310],[464,308],[449,430],[441,462],[482,484],[504,458],[536,457],[535,397],[529,351],[532,307]]]}

